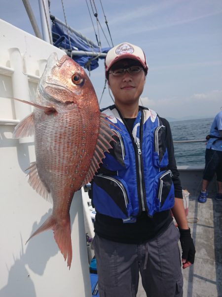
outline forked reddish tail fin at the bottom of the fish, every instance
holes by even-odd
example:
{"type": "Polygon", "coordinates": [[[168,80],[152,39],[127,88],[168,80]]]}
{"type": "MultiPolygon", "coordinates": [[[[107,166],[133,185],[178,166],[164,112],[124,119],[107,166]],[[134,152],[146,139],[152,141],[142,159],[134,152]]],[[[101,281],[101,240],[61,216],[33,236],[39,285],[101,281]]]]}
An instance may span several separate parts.
{"type": "Polygon", "coordinates": [[[71,224],[70,224],[70,214],[67,214],[65,219],[56,219],[54,215],[51,215],[27,240],[28,241],[43,231],[49,229],[53,230],[55,241],[64,256],[67,266],[71,267],[72,258],[73,258],[73,248],[71,241],[71,224]]]}

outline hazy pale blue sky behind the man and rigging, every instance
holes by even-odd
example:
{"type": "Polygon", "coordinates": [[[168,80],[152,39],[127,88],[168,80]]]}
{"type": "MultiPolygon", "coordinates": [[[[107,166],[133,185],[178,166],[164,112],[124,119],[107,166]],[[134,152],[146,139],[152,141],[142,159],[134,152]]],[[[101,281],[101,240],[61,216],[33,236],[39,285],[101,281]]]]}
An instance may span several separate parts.
{"type": "MultiPolygon", "coordinates": [[[[38,0],[29,2],[41,31],[38,0]]],[[[162,117],[178,120],[210,118],[221,110],[221,0],[91,2],[95,3],[106,37],[101,29],[97,30],[90,0],[51,0],[50,13],[63,22],[66,18],[70,27],[94,43],[95,28],[103,48],[111,46],[111,38],[114,46],[129,42],[141,47],[149,67],[141,104],[155,110],[162,117]]],[[[1,0],[0,18],[34,35],[22,0],[1,0]]],[[[104,69],[104,60],[101,59],[97,69],[90,73],[86,71],[99,101],[105,83],[104,69]]],[[[106,86],[100,106],[111,104],[112,99],[106,86]]]]}

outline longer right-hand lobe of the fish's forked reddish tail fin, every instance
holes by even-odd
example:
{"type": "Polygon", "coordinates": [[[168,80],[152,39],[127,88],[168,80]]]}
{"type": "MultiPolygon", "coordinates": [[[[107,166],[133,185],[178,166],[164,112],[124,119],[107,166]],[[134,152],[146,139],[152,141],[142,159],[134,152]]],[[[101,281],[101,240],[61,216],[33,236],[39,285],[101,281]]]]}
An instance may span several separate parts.
{"type": "Polygon", "coordinates": [[[71,241],[71,224],[70,224],[70,214],[67,214],[66,219],[62,223],[56,223],[54,228],[54,238],[55,241],[64,256],[67,266],[71,267],[71,262],[73,258],[73,248],[71,241]]]}

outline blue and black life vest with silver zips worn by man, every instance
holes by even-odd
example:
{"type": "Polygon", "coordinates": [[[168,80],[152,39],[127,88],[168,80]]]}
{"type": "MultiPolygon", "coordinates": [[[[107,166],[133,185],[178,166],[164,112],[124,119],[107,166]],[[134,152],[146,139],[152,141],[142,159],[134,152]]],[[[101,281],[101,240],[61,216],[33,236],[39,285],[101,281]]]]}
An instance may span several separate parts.
{"type": "Polygon", "coordinates": [[[156,112],[140,107],[133,131],[115,105],[102,110],[118,138],[92,182],[97,212],[133,222],[142,211],[148,216],[174,206],[172,173],[166,170],[168,152],[165,126],[156,112]],[[164,170],[165,169],[165,170],[164,170]]]}

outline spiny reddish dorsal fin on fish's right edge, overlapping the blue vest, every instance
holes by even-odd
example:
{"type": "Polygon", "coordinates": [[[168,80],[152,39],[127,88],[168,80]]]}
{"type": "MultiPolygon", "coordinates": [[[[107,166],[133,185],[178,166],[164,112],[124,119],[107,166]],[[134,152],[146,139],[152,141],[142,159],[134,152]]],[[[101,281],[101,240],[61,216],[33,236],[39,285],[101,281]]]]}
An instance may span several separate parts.
{"type": "Polygon", "coordinates": [[[102,163],[102,159],[105,157],[104,152],[108,151],[111,147],[110,142],[115,141],[112,136],[116,136],[116,133],[111,130],[110,125],[112,124],[109,122],[105,115],[101,113],[100,115],[100,131],[99,136],[96,144],[96,148],[91,159],[91,163],[89,166],[88,173],[82,183],[82,186],[90,182],[99,169],[99,164],[102,163]]]}

